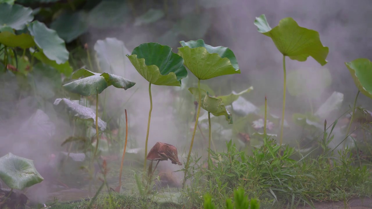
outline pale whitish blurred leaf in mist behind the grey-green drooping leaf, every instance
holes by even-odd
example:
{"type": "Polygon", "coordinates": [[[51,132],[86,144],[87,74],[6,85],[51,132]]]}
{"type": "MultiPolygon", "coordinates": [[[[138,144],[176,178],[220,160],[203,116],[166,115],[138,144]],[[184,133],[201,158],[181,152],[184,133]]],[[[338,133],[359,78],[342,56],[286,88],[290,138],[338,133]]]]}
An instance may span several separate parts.
{"type": "Polygon", "coordinates": [[[116,73],[127,71],[126,67],[131,65],[125,59],[125,55],[130,53],[122,41],[116,38],[105,38],[97,40],[94,44],[94,50],[97,52],[99,65],[104,72],[116,73]]]}

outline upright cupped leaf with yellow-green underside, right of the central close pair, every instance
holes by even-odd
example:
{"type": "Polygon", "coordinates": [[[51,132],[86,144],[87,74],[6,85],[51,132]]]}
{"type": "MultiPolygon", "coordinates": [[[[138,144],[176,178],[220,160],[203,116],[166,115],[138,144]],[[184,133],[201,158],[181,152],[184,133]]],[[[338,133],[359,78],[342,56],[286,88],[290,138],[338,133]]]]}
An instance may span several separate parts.
{"type": "Polygon", "coordinates": [[[213,47],[202,39],[181,41],[178,54],[185,65],[199,79],[206,80],[221,75],[240,73],[234,52],[223,46],[213,47]]]}

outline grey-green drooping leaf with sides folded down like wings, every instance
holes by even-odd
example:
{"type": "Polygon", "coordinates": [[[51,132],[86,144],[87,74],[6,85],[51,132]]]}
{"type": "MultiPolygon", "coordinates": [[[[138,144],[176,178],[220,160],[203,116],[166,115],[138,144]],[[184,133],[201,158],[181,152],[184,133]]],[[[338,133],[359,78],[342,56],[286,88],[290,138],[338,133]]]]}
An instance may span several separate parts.
{"type": "Polygon", "coordinates": [[[71,78],[78,80],[64,84],[63,87],[72,93],[80,94],[83,96],[91,96],[93,94],[97,94],[97,91],[98,94],[100,94],[103,90],[111,85],[116,88],[127,90],[135,84],[133,81],[130,81],[118,75],[108,73],[94,73],[84,68],[75,71],[71,78]],[[78,79],[80,77],[84,78],[78,79]]]}

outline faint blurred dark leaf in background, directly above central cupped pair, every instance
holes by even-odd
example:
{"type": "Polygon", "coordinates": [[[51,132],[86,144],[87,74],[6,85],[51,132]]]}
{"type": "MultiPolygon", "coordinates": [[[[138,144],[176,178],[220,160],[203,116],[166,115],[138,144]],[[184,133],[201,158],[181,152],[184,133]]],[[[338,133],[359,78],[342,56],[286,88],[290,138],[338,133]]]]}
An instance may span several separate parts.
{"type": "Polygon", "coordinates": [[[179,33],[186,36],[188,39],[199,39],[205,36],[211,26],[212,18],[208,12],[196,14],[189,13],[177,23],[179,33]]]}

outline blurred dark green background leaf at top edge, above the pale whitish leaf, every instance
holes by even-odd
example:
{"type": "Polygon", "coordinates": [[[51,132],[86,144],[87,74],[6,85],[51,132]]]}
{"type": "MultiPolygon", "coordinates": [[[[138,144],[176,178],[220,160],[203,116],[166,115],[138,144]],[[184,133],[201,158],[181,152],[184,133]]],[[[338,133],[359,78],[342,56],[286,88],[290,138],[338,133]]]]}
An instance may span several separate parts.
{"type": "Polygon", "coordinates": [[[114,28],[125,24],[130,14],[130,6],[126,1],[101,1],[90,10],[88,22],[95,28],[114,28]]]}

